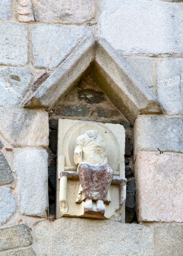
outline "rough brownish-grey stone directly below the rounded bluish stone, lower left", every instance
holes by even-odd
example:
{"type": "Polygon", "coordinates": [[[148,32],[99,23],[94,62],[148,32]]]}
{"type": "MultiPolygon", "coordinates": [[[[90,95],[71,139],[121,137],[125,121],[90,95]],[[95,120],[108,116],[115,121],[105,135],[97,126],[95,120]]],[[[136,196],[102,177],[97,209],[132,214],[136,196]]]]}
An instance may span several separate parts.
{"type": "Polygon", "coordinates": [[[26,224],[0,229],[0,251],[32,244],[30,228],[26,224]]]}

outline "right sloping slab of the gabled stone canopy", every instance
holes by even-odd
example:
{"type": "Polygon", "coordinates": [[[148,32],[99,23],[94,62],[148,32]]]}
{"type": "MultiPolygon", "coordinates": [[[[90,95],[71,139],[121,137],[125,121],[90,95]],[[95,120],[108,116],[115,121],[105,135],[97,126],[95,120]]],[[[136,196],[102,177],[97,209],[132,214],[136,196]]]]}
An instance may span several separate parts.
{"type": "Polygon", "coordinates": [[[96,41],[95,62],[90,76],[131,124],[138,114],[163,112],[154,92],[106,39],[96,41]]]}

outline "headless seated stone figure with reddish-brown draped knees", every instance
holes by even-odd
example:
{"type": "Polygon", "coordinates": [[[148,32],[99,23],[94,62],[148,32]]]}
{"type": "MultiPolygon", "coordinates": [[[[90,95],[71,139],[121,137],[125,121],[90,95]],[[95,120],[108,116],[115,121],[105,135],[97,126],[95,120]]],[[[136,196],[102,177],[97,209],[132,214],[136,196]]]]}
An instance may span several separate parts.
{"type": "Polygon", "coordinates": [[[107,146],[98,131],[86,131],[77,138],[74,162],[80,178],[76,203],[85,200],[84,212],[91,212],[94,200],[97,212],[104,213],[104,202],[111,202],[109,187],[114,172],[107,164],[107,146]]]}

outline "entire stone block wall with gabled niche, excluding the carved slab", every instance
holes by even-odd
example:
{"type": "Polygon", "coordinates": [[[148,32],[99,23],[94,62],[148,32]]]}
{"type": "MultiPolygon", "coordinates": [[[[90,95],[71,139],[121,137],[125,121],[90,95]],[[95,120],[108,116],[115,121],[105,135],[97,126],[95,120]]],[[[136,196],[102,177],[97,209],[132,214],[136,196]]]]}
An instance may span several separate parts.
{"type": "Polygon", "coordinates": [[[0,255],[182,255],[182,1],[0,9],[0,255]],[[128,223],[55,220],[58,118],[124,125],[128,223]]]}

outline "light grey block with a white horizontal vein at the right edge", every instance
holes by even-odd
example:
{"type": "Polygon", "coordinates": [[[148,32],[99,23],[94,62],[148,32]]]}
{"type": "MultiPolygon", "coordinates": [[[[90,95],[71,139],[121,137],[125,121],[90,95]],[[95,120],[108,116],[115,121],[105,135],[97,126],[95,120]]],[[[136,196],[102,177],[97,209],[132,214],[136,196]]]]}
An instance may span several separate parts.
{"type": "Polygon", "coordinates": [[[156,63],[158,98],[167,114],[183,114],[183,59],[156,63]]]}

